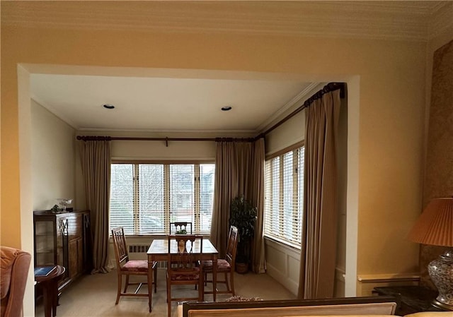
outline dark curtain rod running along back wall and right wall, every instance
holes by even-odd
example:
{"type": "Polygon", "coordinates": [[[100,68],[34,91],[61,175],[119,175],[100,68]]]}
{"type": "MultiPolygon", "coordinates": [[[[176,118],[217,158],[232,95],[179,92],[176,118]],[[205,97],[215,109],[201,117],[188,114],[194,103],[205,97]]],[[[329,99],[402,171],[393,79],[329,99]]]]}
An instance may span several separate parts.
{"type": "Polygon", "coordinates": [[[236,141],[236,142],[253,142],[258,140],[259,138],[264,138],[266,134],[270,133],[270,131],[273,131],[275,128],[280,126],[281,124],[285,123],[289,119],[291,119],[293,116],[301,112],[303,109],[306,107],[309,107],[311,103],[313,103],[315,100],[321,98],[324,94],[327,92],[331,92],[334,90],[340,90],[340,98],[345,97],[345,83],[328,83],[323,87],[323,89],[319,90],[318,92],[315,92],[314,95],[309,97],[309,99],[305,100],[304,104],[300,106],[299,108],[295,109],[294,112],[291,112],[285,118],[282,120],[278,121],[276,124],[268,128],[268,130],[259,133],[258,136],[254,138],[137,138],[137,137],[117,137],[117,136],[77,136],[77,140],[147,140],[147,141],[166,141],[166,146],[168,147],[168,141],[215,141],[215,142],[221,142],[221,141],[236,141]]]}

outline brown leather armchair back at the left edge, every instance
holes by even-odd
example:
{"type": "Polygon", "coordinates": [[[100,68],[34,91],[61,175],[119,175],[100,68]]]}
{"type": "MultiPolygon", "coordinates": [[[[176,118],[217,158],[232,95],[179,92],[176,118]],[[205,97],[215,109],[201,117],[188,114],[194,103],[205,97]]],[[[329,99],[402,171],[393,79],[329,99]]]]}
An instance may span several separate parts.
{"type": "Polygon", "coordinates": [[[27,285],[31,255],[28,252],[1,246],[1,317],[22,317],[23,295],[27,285]]]}

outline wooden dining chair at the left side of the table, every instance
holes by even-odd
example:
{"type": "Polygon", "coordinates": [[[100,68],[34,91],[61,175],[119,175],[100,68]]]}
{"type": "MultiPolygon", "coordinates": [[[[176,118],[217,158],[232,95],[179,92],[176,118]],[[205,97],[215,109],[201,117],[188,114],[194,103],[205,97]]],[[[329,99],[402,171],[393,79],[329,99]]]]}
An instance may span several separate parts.
{"type": "MultiPolygon", "coordinates": [[[[140,287],[144,284],[148,284],[148,282],[129,282],[130,275],[142,275],[148,276],[148,261],[147,260],[130,260],[129,254],[127,253],[127,245],[125,239],[125,231],[123,227],[117,227],[112,229],[112,239],[113,239],[113,246],[115,249],[115,258],[117,264],[117,275],[118,275],[118,288],[117,288],[117,296],[115,305],[118,304],[120,301],[120,297],[122,296],[139,296],[139,297],[148,297],[149,293],[151,292],[151,285],[148,285],[148,292],[138,293],[140,287]],[[122,275],[126,276],[125,280],[125,289],[124,292],[121,292],[122,286],[122,275]],[[134,293],[128,293],[127,287],[130,285],[138,285],[137,289],[135,289],[134,293]]],[[[156,270],[157,262],[154,261],[152,264],[152,268],[154,271],[154,293],[157,291],[157,270],[156,270]]]]}

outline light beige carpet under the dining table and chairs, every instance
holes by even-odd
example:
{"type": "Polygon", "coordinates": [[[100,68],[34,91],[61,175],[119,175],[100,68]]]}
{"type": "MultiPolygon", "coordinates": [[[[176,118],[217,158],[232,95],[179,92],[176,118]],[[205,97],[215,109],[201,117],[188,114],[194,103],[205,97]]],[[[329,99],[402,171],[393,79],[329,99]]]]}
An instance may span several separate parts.
{"type": "MultiPolygon", "coordinates": [[[[131,279],[132,280],[132,279],[131,279]]],[[[261,299],[294,299],[295,296],[276,280],[266,274],[247,273],[245,275],[234,275],[236,295],[241,297],[260,297],[261,299]]],[[[218,285],[218,289],[224,289],[225,285],[218,285]]],[[[147,286],[142,290],[146,292],[147,286]]],[[[209,289],[210,286],[208,285],[209,289]]],[[[167,316],[165,270],[161,269],[157,277],[157,293],[153,293],[153,311],[148,311],[147,297],[121,297],[120,302],[115,305],[117,289],[117,274],[113,270],[107,274],[84,275],[74,282],[59,299],[57,317],[77,316],[167,316]]],[[[132,290],[132,287],[131,289],[132,290]]],[[[172,296],[180,294],[197,296],[197,291],[192,285],[180,285],[172,287],[172,296]]],[[[182,295],[181,295],[182,296],[182,295]]],[[[217,295],[217,301],[224,301],[231,294],[217,295]]],[[[212,301],[212,294],[205,295],[206,301],[212,301]]],[[[176,301],[172,302],[172,317],[176,317],[176,301]]],[[[35,309],[36,317],[43,317],[42,304],[35,309]]]]}

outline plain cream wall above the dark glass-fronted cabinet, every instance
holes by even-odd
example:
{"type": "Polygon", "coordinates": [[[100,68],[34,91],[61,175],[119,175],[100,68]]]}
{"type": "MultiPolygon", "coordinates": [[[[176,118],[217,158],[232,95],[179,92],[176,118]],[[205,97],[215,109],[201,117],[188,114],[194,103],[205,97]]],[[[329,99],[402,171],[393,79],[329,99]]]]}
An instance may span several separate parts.
{"type": "Polygon", "coordinates": [[[74,128],[34,100],[31,158],[33,210],[49,210],[57,198],[75,198],[74,128]]]}

